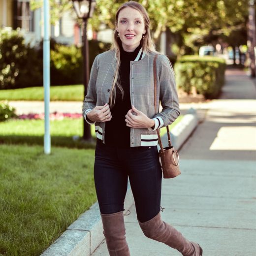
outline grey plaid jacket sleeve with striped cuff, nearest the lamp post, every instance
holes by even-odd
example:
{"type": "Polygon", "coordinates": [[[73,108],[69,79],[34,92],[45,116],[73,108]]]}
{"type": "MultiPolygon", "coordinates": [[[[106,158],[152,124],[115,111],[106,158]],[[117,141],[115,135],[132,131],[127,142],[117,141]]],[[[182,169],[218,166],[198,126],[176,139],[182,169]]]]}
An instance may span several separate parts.
{"type": "Polygon", "coordinates": [[[97,102],[97,94],[96,94],[96,80],[97,80],[97,74],[98,74],[98,56],[96,56],[93,66],[91,68],[91,73],[90,73],[90,79],[88,83],[88,88],[87,88],[87,95],[85,96],[84,99],[84,104],[83,104],[83,116],[86,120],[86,122],[90,125],[95,124],[95,122],[92,122],[89,120],[86,115],[92,111],[93,108],[96,106],[97,102]]]}

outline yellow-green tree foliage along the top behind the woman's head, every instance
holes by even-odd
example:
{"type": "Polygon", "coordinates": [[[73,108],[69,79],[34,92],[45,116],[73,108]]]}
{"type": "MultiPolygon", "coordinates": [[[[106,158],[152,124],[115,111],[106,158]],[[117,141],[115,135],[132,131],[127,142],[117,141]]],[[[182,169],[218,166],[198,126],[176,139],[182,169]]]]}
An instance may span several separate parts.
{"type": "MultiPolygon", "coordinates": [[[[210,36],[227,38],[234,31],[246,28],[248,0],[138,0],[146,8],[151,20],[153,38],[157,41],[162,31],[176,38],[178,49],[202,44],[210,36]]],[[[42,0],[31,0],[32,8],[42,6],[42,0]]],[[[124,0],[97,0],[93,18],[94,31],[100,24],[114,29],[115,15],[124,0]]],[[[64,11],[72,9],[70,0],[50,0],[54,23],[64,11]]]]}

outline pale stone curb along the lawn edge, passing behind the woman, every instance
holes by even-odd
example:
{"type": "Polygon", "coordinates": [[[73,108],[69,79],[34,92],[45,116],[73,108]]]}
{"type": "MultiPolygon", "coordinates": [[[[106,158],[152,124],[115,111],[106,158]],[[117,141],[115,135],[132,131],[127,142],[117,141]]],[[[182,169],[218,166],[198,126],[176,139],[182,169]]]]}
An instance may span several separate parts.
{"type": "MultiPolygon", "coordinates": [[[[197,115],[186,114],[171,131],[172,145],[179,150],[198,124],[197,115]]],[[[163,146],[167,146],[167,134],[162,136],[163,146]]],[[[128,181],[125,209],[133,204],[133,195],[128,181]]],[[[64,233],[41,254],[41,256],[91,256],[104,240],[98,202],[69,225],[64,233]]]]}

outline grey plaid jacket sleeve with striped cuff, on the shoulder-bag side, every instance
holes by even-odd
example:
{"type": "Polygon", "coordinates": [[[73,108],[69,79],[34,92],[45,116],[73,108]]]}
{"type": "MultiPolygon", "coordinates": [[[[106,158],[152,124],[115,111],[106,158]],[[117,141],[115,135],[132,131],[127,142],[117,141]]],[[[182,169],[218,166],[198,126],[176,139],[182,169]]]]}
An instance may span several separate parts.
{"type": "Polygon", "coordinates": [[[165,55],[159,55],[158,58],[160,102],[162,111],[154,116],[153,120],[155,121],[155,127],[149,128],[151,131],[172,124],[180,115],[179,99],[173,68],[165,55]]]}

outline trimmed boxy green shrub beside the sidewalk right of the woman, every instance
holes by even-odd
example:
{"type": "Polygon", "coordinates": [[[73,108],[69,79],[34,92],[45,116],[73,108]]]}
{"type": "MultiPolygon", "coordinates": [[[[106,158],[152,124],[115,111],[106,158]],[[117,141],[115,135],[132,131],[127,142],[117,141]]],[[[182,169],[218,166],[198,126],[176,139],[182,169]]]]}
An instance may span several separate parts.
{"type": "Polygon", "coordinates": [[[215,98],[224,85],[225,60],[210,56],[183,56],[175,66],[177,86],[190,94],[192,87],[205,98],[215,98]]]}

